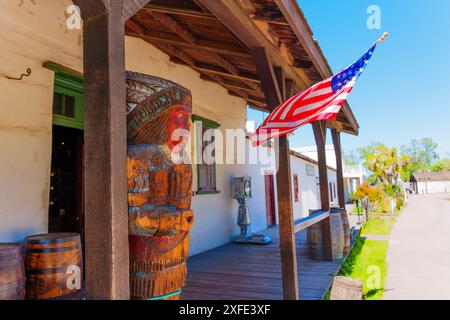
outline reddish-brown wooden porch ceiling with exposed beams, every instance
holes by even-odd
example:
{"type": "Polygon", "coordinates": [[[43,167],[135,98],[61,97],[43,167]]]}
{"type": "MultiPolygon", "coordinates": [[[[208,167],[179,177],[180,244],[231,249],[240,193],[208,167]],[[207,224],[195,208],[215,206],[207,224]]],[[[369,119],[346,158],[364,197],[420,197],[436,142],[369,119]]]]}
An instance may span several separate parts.
{"type": "MultiPolygon", "coordinates": [[[[271,47],[279,58],[274,64],[285,70],[287,78],[296,84],[296,90],[332,74],[295,0],[214,2],[214,5],[223,2],[229,14],[238,13],[236,19],[246,20],[243,23],[251,32],[258,33],[258,37],[252,37],[252,42],[271,47]]],[[[255,43],[241,42],[243,37],[231,32],[224,19],[207,7],[209,3],[205,0],[152,0],[126,22],[125,32],[156,46],[173,62],[196,70],[202,79],[222,85],[231,95],[245,99],[251,107],[267,112],[250,54],[250,47],[255,43]]],[[[358,124],[348,105],[328,126],[358,133],[358,124]]]]}

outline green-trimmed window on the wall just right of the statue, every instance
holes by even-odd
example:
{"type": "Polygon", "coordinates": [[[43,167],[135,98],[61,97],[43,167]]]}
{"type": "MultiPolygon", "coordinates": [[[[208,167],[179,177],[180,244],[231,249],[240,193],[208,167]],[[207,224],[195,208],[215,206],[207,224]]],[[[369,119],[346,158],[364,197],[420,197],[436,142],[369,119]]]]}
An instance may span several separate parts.
{"type": "Polygon", "coordinates": [[[192,121],[196,126],[197,145],[199,146],[197,150],[197,194],[219,193],[217,190],[216,163],[215,161],[213,163],[205,161],[204,154],[208,148],[208,150],[212,150],[212,157],[215,157],[214,129],[219,128],[220,124],[196,115],[192,116],[192,121]],[[204,139],[205,137],[207,138],[204,139]]]}

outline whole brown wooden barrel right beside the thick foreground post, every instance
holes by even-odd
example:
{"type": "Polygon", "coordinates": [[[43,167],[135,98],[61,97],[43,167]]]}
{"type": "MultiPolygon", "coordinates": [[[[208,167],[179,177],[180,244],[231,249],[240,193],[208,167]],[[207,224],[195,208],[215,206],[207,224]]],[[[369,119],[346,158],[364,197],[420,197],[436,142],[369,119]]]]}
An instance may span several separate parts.
{"type": "Polygon", "coordinates": [[[80,235],[51,233],[26,238],[26,298],[82,298],[83,258],[80,235]]]}

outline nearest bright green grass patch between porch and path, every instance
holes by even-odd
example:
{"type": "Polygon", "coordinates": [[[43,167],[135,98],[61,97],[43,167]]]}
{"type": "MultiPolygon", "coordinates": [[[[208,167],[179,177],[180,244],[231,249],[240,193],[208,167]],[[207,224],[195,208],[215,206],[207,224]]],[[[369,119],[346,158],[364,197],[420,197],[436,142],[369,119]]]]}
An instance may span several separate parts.
{"type": "MultiPolygon", "coordinates": [[[[362,281],[364,300],[380,300],[383,297],[388,246],[388,241],[367,240],[358,237],[352,252],[339,272],[340,276],[362,281]],[[373,285],[377,282],[376,279],[379,279],[377,288],[369,289],[368,284],[373,285]]],[[[329,299],[329,294],[328,292],[325,299],[329,299]]]]}

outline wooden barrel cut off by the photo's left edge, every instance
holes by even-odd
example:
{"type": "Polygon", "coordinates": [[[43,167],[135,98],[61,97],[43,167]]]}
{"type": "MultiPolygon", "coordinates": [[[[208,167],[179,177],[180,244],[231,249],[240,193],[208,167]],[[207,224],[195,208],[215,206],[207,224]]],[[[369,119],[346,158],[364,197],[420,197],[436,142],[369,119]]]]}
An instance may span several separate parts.
{"type": "Polygon", "coordinates": [[[0,243],[0,300],[25,298],[25,270],[22,246],[0,243]]]}

